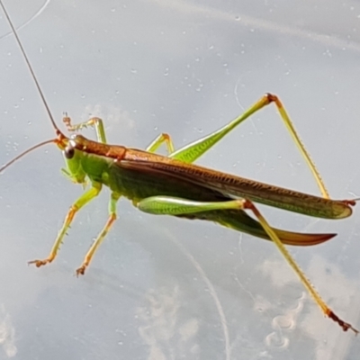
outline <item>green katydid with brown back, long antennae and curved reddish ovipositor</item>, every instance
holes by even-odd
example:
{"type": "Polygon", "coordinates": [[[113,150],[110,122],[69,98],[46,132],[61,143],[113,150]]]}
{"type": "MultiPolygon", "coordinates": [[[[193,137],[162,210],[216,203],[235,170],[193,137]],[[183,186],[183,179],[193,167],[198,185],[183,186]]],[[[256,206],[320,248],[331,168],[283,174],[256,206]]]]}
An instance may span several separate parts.
{"type": "Polygon", "coordinates": [[[311,293],[315,302],[318,303],[321,311],[330,319],[336,321],[345,331],[351,329],[356,334],[358,333],[358,330],[338,318],[329,309],[284,246],[284,244],[296,246],[316,245],[333,238],[336,234],[302,234],[272,228],[254,204],[254,202],[259,202],[287,211],[325,219],[346,218],[351,215],[352,206],[356,204],[355,200],[335,201],[329,199],[329,193],[311,157],[294,130],[293,123],[283,104],[274,94],[264,95],[246,112],[230,121],[220,130],[216,130],[210,135],[177,150],[175,150],[172,140],[166,134],[161,134],[146,150],[108,145],[103,129],[103,121],[98,118],[92,118],[76,125],[72,125],[67,116],[63,120],[69,131],[94,126],[97,141],[85,139],[78,134],[67,137],[58,129],[49,110],[49,105],[40,89],[40,84],[34,75],[30,61],[23,49],[22,42],[4,8],[3,2],[0,1],[0,4],[14,32],[14,37],[22,51],[23,58],[30,69],[41,100],[48,112],[49,120],[56,132],[55,139],[43,141],[29,148],[2,166],[0,172],[3,172],[14,161],[33,149],[40,148],[45,144],[55,143],[65,157],[67,169],[64,172],[67,177],[77,184],[85,184],[86,182],[91,184],[91,187],[71,205],[64,224],[58,232],[58,237],[51,248],[49,257],[43,260],[31,261],[30,264],[40,267],[54,260],[58,253],[58,247],[63,241],[76,212],[84,207],[86,203],[92,201],[105,185],[111,190],[109,218],[85,255],[82,265],[76,270],[76,275],[85,274],[85,269],[89,266],[94,252],[116,220],[116,205],[123,196],[127,197],[140,211],[172,215],[185,219],[211,220],[258,238],[272,240],[300,277],[302,284],[311,293]],[[193,162],[198,157],[201,157],[204,152],[213,147],[229,131],[237,127],[242,121],[245,121],[254,112],[270,103],[275,103],[295,144],[311,168],[311,172],[320,186],[322,197],[258,183],[236,175],[224,174],[216,170],[193,165],[193,162]],[[167,157],[155,154],[157,148],[163,143],[166,143],[169,153],[167,157]],[[246,211],[251,211],[257,220],[247,215],[246,211]]]}

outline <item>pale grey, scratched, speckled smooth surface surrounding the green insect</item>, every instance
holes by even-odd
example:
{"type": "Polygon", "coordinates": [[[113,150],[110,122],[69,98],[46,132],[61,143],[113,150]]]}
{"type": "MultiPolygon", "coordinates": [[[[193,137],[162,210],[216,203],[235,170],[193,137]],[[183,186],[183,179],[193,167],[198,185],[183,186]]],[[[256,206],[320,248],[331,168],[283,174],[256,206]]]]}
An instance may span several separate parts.
{"type": "MultiPolygon", "coordinates": [[[[318,1],[7,1],[58,124],[102,116],[109,142],[175,145],[279,94],[334,198],[360,194],[360,4],[318,1]]],[[[0,162],[54,136],[3,14],[0,162]]],[[[86,132],[94,136],[92,131],[86,132]]],[[[273,107],[199,164],[319,193],[273,107]]],[[[201,221],[119,204],[119,220],[81,278],[107,217],[106,189],[46,257],[81,186],[54,146],[0,176],[0,358],[356,359],[358,338],[325,319],[273,244],[201,221]]],[[[311,283],[360,328],[359,211],[317,220],[262,207],[277,227],[338,232],[291,248],[311,283]]]]}

